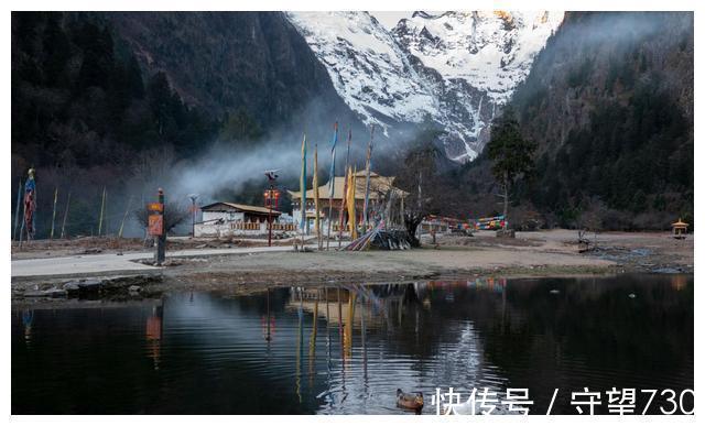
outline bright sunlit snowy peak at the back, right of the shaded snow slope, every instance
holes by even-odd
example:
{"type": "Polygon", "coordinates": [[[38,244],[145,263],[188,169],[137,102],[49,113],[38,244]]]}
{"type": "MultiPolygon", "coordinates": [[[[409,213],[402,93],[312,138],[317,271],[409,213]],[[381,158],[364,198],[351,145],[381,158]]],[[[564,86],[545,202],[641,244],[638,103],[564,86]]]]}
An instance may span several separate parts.
{"type": "Polygon", "coordinates": [[[414,13],[393,32],[424,66],[505,102],[562,20],[544,11],[414,13]]]}

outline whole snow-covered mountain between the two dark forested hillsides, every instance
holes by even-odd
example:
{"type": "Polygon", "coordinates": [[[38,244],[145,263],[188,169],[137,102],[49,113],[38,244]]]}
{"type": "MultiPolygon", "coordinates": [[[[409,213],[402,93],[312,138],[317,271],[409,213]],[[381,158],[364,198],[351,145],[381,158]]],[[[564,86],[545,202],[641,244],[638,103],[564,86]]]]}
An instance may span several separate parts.
{"type": "Polygon", "coordinates": [[[344,101],[386,134],[432,120],[448,157],[475,159],[488,125],[563,12],[414,12],[389,30],[368,12],[289,12],[344,101]]]}

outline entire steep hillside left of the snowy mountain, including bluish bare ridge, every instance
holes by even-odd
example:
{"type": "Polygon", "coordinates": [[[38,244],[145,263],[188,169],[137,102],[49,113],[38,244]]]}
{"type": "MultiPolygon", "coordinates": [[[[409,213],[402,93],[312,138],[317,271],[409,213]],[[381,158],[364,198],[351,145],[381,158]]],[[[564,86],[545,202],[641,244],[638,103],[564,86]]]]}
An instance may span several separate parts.
{"type": "Polygon", "coordinates": [[[12,13],[12,200],[35,167],[40,237],[55,187],[73,192],[73,233],[89,233],[104,186],[123,209],[143,197],[135,182],[214,143],[328,140],[335,119],[359,124],[279,12],[12,13]]]}

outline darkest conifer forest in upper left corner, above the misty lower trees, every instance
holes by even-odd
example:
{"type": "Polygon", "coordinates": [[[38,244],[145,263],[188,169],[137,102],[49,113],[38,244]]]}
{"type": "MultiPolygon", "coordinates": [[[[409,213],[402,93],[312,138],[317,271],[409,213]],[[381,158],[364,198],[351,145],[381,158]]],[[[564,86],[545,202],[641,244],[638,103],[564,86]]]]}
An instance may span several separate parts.
{"type": "Polygon", "coordinates": [[[164,144],[189,155],[217,134],[218,120],[165,74],[143,76],[109,28],[40,12],[12,24],[12,152],[26,163],[115,164],[164,144]]]}

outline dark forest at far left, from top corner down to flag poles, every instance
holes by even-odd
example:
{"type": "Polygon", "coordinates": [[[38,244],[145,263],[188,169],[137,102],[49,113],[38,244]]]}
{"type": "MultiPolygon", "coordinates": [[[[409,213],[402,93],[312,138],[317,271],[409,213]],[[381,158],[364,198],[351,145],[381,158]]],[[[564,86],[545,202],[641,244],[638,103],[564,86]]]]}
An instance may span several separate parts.
{"type": "Polygon", "coordinates": [[[118,200],[139,195],[124,183],[142,152],[174,152],[178,160],[218,138],[262,136],[247,110],[217,117],[183,101],[167,74],[148,73],[109,25],[87,15],[13,12],[11,73],[12,214],[18,182],[33,166],[37,238],[51,228],[54,187],[59,212],[72,193],[67,233],[90,234],[104,186],[116,217],[124,208],[118,200]]]}

